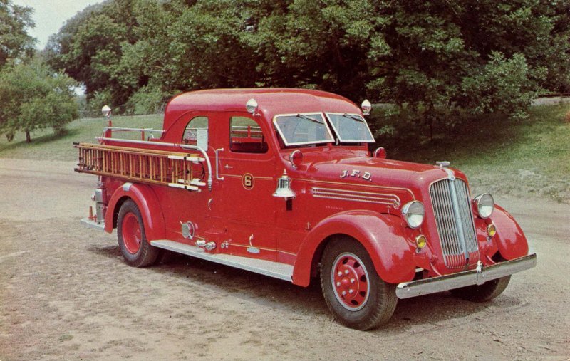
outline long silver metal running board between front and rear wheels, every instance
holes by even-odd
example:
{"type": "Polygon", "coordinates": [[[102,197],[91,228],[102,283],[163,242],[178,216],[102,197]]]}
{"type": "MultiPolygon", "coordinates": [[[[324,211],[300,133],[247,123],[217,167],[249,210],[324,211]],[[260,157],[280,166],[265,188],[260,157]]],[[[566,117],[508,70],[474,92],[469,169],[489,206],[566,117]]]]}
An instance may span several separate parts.
{"type": "Polygon", "coordinates": [[[204,249],[181,244],[180,242],[157,240],[150,241],[152,246],[164,248],[168,251],[182,253],[187,256],[201,258],[206,261],[220,263],[226,266],[240,268],[246,271],[255,272],[264,276],[279,278],[280,280],[292,282],[293,266],[285,263],[264,261],[262,259],[232,256],[229,254],[207,253],[204,249]]]}

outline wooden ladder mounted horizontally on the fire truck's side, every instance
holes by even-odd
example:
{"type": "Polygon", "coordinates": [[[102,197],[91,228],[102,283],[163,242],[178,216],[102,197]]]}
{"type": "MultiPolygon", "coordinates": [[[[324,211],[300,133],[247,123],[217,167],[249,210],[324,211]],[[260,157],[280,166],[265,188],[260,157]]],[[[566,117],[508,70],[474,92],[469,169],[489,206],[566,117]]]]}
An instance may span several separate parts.
{"type": "Polygon", "coordinates": [[[79,150],[76,172],[196,192],[206,186],[202,181],[206,159],[197,154],[90,143],[73,143],[73,147],[79,150]]]}

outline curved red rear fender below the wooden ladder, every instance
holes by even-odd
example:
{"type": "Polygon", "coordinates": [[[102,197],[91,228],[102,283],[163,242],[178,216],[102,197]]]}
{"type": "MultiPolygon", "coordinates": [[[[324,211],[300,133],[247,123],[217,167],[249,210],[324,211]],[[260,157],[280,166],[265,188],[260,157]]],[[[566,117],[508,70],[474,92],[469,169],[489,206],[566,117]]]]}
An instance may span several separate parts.
{"type": "Polygon", "coordinates": [[[125,197],[133,199],[137,204],[145,226],[147,240],[165,239],[165,218],[160,202],[152,188],[145,184],[125,183],[123,187],[115,189],[107,205],[105,231],[109,233],[113,231],[113,216],[118,212],[117,206],[122,204],[120,200],[125,197]]]}

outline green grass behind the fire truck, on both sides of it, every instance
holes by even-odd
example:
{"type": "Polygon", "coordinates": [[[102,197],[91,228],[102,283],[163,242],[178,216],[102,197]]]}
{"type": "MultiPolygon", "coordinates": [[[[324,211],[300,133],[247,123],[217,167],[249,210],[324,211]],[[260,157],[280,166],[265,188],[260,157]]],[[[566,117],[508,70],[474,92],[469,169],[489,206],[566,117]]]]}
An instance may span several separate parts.
{"type": "MultiPolygon", "coordinates": [[[[433,142],[417,128],[393,124],[398,130],[394,135],[376,139],[391,159],[450,161],[467,174],[473,193],[532,195],[570,203],[570,123],[564,121],[569,110],[570,105],[536,106],[527,120],[518,122],[484,117],[445,134],[436,132],[433,142]]],[[[381,117],[375,121],[375,127],[397,122],[381,117]]],[[[0,158],[75,161],[72,143],[94,142],[104,125],[102,117],[76,120],[61,137],[51,130],[33,132],[31,144],[26,144],[23,134],[12,142],[1,137],[0,158]]],[[[161,129],[162,116],[113,117],[113,125],[161,129]]]]}

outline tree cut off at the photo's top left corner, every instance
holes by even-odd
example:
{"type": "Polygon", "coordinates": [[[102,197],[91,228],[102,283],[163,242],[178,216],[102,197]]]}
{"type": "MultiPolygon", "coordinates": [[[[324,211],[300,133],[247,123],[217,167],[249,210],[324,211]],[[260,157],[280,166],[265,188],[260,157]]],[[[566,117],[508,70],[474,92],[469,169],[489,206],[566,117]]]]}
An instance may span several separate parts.
{"type": "Polygon", "coordinates": [[[33,51],[35,40],[26,32],[26,28],[33,28],[31,13],[31,8],[0,0],[0,69],[9,59],[33,51]]]}

